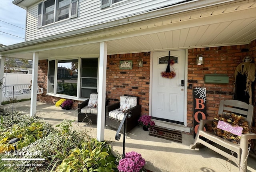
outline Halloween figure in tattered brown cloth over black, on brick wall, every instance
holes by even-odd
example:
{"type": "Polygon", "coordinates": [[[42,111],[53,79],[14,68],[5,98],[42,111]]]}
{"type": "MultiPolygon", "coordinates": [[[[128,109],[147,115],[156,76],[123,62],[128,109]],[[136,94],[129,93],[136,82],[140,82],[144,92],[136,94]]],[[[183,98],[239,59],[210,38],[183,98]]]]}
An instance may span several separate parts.
{"type": "Polygon", "coordinates": [[[234,99],[252,104],[252,83],[255,80],[256,65],[247,56],[236,67],[234,83],[234,99]]]}

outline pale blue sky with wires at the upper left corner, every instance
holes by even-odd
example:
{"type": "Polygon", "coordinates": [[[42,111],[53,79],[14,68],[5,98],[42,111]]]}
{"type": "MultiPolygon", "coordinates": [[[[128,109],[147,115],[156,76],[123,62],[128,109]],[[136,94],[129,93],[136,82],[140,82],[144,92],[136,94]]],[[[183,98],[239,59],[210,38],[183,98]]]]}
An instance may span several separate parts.
{"type": "Polygon", "coordinates": [[[26,10],[12,4],[12,1],[0,2],[0,44],[3,45],[25,41],[26,10]]]}

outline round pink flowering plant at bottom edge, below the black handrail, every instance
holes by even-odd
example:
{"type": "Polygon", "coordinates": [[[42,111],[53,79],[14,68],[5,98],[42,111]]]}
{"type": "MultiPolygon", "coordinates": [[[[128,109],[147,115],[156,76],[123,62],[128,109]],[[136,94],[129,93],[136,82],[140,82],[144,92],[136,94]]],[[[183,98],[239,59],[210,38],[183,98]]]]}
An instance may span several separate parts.
{"type": "Polygon", "coordinates": [[[120,172],[146,172],[145,160],[141,154],[137,152],[127,152],[125,158],[121,159],[118,164],[118,170],[120,172]]]}

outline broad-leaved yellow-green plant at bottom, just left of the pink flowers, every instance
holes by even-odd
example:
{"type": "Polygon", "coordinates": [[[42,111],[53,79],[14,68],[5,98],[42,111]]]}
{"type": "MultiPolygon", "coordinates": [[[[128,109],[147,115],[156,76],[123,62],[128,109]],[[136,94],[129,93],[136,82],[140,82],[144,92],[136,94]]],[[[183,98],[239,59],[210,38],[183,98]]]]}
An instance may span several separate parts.
{"type": "Polygon", "coordinates": [[[118,172],[116,157],[111,147],[95,138],[82,143],[82,149],[74,148],[55,172],[118,172]]]}

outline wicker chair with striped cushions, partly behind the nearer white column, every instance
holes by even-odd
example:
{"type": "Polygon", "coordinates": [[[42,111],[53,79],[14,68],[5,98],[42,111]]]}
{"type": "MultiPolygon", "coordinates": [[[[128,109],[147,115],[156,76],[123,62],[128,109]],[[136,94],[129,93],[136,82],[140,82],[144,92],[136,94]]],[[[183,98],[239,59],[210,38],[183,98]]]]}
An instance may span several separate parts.
{"type": "MultiPolygon", "coordinates": [[[[97,123],[98,108],[93,106],[97,103],[96,101],[98,101],[98,93],[91,93],[90,99],[78,104],[78,122],[97,123]]],[[[106,105],[108,105],[107,99],[106,105]]]]}

